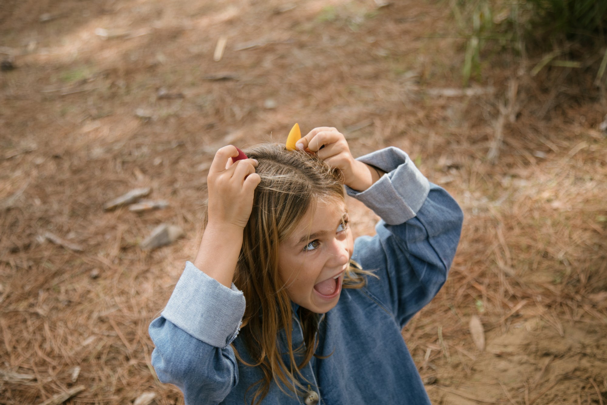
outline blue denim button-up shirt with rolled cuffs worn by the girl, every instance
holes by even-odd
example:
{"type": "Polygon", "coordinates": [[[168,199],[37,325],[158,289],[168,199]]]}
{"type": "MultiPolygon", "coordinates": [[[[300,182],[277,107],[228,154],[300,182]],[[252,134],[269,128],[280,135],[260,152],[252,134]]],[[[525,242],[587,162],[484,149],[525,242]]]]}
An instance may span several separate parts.
{"type": "MultiPolygon", "coordinates": [[[[367,277],[364,288],[343,289],[322,317],[316,355],[326,358],[304,367],[302,383],[325,405],[430,404],[401,329],[443,286],[463,215],[398,148],[359,160],[386,172],[364,192],[347,190],[382,218],[374,237],[356,239],[352,257],[379,279],[367,277]]],[[[166,308],[149,327],[158,378],[179,387],[186,404],[243,404],[246,390],[262,378],[258,367],[237,362],[231,347],[251,361],[237,336],[244,312],[236,286],[226,288],[186,263],[166,308]]],[[[302,344],[295,314],[292,336],[294,347],[302,344]]],[[[301,404],[304,398],[273,383],[263,403],[301,404]]]]}

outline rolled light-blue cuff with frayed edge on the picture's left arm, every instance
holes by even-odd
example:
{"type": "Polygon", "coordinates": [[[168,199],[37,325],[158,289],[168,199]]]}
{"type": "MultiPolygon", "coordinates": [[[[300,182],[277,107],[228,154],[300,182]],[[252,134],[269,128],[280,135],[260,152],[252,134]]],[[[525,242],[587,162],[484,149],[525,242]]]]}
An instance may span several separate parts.
{"type": "Polygon", "coordinates": [[[190,261],[162,311],[177,327],[211,346],[224,348],[240,331],[245,296],[212,279],[190,261]]]}

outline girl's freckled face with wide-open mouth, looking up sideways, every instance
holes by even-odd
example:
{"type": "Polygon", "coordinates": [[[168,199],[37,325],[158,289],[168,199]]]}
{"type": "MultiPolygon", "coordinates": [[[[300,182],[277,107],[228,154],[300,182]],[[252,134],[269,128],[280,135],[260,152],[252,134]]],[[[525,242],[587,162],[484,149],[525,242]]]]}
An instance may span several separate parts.
{"type": "Polygon", "coordinates": [[[322,314],[337,304],[354,242],[344,201],[315,208],[280,243],[278,265],[291,301],[322,314]]]}

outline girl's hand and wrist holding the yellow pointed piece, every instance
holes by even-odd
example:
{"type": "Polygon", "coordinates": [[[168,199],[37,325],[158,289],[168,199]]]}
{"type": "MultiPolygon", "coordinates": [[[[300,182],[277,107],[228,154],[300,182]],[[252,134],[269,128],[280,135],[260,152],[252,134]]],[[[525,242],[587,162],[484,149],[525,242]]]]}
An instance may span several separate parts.
{"type": "Polygon", "coordinates": [[[353,190],[367,190],[378,181],[380,173],[375,168],[357,161],[350,153],[348,142],[335,128],[320,126],[297,141],[297,149],[314,153],[327,162],[331,168],[337,168],[344,175],[344,184],[353,190]]]}

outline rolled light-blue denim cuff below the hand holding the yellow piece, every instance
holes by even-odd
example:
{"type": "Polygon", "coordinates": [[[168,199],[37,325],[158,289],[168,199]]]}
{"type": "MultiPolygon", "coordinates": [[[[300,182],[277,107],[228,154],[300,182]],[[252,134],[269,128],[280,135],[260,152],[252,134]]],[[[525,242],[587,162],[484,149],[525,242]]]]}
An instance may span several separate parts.
{"type": "Polygon", "coordinates": [[[405,223],[417,214],[426,201],[430,182],[409,155],[399,148],[388,147],[356,160],[386,173],[362,192],[346,187],[349,196],[363,202],[390,225],[405,223]]]}

